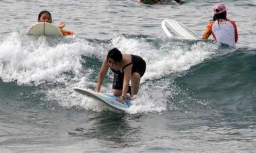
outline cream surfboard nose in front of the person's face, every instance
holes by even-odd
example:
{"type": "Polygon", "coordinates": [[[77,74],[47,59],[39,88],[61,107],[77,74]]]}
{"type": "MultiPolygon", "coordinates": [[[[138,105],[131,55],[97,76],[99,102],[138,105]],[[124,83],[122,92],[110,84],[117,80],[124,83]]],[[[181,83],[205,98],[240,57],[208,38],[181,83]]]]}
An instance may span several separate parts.
{"type": "Polygon", "coordinates": [[[26,31],[26,34],[36,36],[56,36],[63,37],[63,34],[56,25],[47,22],[38,22],[30,26],[26,31]]]}

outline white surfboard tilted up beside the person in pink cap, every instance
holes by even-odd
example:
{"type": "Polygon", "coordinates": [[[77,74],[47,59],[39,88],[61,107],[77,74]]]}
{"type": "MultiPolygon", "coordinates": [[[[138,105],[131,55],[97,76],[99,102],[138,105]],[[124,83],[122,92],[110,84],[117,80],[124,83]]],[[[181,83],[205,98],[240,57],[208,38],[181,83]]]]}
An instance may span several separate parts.
{"type": "Polygon", "coordinates": [[[187,28],[183,23],[174,19],[164,19],[162,21],[162,30],[170,38],[183,39],[183,40],[201,40],[192,30],[187,28]]]}

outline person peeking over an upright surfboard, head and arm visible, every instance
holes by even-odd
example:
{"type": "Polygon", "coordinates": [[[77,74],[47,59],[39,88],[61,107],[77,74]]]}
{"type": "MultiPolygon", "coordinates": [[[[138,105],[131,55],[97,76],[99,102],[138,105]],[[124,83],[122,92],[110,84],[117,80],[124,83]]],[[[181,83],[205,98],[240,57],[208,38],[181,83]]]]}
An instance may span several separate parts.
{"type": "MultiPolygon", "coordinates": [[[[37,21],[38,22],[52,23],[52,15],[49,11],[41,11],[38,15],[38,20],[37,21]]],[[[58,28],[59,28],[59,30],[61,30],[63,36],[75,35],[73,32],[63,30],[64,27],[65,27],[65,23],[64,22],[59,22],[58,28]]]]}

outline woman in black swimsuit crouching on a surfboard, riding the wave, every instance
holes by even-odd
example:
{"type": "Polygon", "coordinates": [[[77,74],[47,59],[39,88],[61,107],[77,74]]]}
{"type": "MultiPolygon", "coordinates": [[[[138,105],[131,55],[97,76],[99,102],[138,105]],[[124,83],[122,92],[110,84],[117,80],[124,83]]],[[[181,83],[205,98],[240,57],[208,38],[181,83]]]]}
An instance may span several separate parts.
{"type": "Polygon", "coordinates": [[[109,50],[98,73],[96,93],[100,92],[108,67],[114,72],[113,95],[119,96],[117,101],[124,103],[127,93],[130,94],[130,99],[138,93],[140,79],[146,70],[143,58],[133,54],[122,54],[117,48],[109,50]]]}

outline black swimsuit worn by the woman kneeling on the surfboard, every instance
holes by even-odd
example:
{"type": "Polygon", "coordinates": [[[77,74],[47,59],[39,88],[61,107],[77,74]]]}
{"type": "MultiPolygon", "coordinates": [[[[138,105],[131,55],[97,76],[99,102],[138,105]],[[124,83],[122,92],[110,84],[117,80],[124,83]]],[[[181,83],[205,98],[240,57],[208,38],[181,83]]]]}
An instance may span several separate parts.
{"type": "Polygon", "coordinates": [[[111,68],[111,70],[114,72],[114,79],[113,79],[113,89],[118,89],[122,90],[123,89],[123,78],[124,78],[124,73],[123,70],[133,64],[131,68],[131,74],[134,72],[137,72],[140,74],[140,77],[143,76],[145,70],[146,70],[146,62],[141,58],[140,56],[137,55],[131,55],[131,62],[123,66],[122,72],[120,70],[114,70],[111,68]]]}

